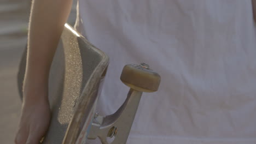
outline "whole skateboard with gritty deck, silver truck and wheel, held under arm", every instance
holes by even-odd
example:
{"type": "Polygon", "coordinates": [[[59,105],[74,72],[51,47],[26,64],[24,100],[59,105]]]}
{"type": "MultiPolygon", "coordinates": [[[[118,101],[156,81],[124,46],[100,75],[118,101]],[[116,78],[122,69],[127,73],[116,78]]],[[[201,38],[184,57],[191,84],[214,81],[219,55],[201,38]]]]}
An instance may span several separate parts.
{"type": "MultiPolygon", "coordinates": [[[[103,144],[126,143],[142,92],[157,91],[160,75],[146,63],[125,65],[120,80],[130,87],[127,98],[117,112],[100,116],[96,104],[109,57],[68,24],[61,41],[50,69],[51,121],[42,143],[80,144],[97,137],[103,144]]],[[[26,50],[18,73],[21,98],[25,67],[26,50]]]]}

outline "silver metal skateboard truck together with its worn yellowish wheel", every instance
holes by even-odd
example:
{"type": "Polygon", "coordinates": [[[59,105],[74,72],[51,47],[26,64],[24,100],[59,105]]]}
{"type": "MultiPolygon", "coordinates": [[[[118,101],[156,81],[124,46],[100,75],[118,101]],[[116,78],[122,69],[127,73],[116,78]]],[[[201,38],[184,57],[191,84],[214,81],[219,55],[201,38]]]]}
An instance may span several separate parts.
{"type": "Polygon", "coordinates": [[[149,65],[141,63],[125,65],[120,79],[130,87],[124,104],[117,112],[106,117],[96,113],[88,139],[95,140],[99,137],[103,144],[126,143],[142,92],[157,91],[161,77],[149,69],[149,65]],[[112,142],[107,141],[108,138],[112,138],[112,142]]]}

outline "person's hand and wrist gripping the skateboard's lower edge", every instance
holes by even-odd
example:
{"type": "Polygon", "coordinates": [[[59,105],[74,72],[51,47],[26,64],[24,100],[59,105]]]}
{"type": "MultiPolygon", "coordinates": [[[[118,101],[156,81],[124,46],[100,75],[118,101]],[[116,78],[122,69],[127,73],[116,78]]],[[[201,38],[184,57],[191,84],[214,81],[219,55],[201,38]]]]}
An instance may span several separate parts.
{"type": "Polygon", "coordinates": [[[24,95],[24,103],[21,110],[21,119],[18,133],[16,134],[16,144],[39,143],[50,123],[50,108],[47,99],[47,92],[37,91],[24,95]],[[36,97],[33,95],[36,94],[36,97]]]}

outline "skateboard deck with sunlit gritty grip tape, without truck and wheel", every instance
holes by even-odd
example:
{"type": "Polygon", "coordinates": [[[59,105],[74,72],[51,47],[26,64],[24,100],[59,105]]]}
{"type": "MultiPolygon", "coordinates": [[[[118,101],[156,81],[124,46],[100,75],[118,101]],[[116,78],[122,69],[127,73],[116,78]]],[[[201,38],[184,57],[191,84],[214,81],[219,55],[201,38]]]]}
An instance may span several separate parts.
{"type": "MultiPolygon", "coordinates": [[[[75,143],[83,126],[91,122],[86,119],[94,114],[98,88],[108,66],[108,56],[67,24],[61,41],[50,69],[51,122],[43,143],[75,143]]],[[[26,50],[18,74],[21,95],[25,67],[26,50]]]]}

